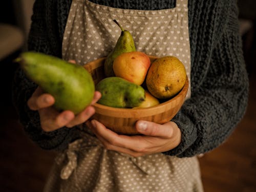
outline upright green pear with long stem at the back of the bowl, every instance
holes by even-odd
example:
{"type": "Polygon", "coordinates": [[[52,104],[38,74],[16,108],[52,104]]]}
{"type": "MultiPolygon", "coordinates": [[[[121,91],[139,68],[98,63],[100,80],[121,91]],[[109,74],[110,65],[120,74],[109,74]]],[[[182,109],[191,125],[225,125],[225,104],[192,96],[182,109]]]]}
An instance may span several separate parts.
{"type": "Polygon", "coordinates": [[[122,26],[117,22],[117,20],[113,20],[122,30],[121,34],[116,42],[114,49],[109,53],[104,62],[104,73],[106,77],[115,76],[113,71],[113,62],[115,58],[126,52],[136,51],[134,40],[132,34],[124,30],[122,26]]]}

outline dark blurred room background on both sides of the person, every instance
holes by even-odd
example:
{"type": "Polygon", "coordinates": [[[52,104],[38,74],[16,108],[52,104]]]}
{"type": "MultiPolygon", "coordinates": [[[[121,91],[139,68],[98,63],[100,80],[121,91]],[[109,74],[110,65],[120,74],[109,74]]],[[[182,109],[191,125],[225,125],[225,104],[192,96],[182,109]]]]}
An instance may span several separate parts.
{"type": "MultiPolygon", "coordinates": [[[[26,50],[34,0],[0,3],[0,191],[41,191],[55,153],[41,150],[24,134],[11,102],[16,63],[26,50]]],[[[206,192],[256,191],[256,1],[239,0],[240,33],[250,79],[246,114],[220,147],[199,160],[206,192]]]]}

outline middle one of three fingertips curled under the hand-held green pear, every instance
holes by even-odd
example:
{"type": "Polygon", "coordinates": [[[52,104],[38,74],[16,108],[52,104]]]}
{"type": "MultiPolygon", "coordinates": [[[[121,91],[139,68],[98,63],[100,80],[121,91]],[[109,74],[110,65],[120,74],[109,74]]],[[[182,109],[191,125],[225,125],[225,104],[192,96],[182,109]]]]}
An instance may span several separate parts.
{"type": "MultiPolygon", "coordinates": [[[[39,111],[40,113],[40,111],[39,111]]],[[[41,128],[46,132],[55,131],[63,126],[66,126],[74,119],[75,115],[71,111],[63,111],[60,114],[53,114],[52,118],[46,116],[41,118],[41,128]]]]}

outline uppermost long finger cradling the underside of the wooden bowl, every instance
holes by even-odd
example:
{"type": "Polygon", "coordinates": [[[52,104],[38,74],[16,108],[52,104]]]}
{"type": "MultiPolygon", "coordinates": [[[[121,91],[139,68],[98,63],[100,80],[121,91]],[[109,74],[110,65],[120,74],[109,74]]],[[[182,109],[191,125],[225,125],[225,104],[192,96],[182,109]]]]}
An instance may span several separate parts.
{"type": "Polygon", "coordinates": [[[92,120],[93,131],[104,138],[108,143],[127,148],[134,152],[145,153],[149,143],[146,142],[146,136],[127,136],[118,135],[117,133],[107,129],[102,123],[92,120]]]}

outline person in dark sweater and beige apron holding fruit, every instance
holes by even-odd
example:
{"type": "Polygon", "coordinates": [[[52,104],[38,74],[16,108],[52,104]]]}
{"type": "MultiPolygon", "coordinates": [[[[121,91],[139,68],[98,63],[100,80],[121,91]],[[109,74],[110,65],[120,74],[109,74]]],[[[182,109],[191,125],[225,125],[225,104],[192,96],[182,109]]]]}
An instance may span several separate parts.
{"type": "Polygon", "coordinates": [[[17,70],[13,101],[26,133],[58,151],[45,191],[203,191],[197,156],[221,145],[242,119],[248,77],[236,1],[36,0],[29,50],[84,65],[107,55],[129,30],[138,51],[181,59],[187,98],[169,122],[139,120],[141,135],[112,132],[90,120],[93,103],[75,116],[17,70]]]}

